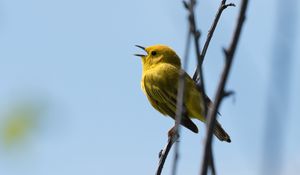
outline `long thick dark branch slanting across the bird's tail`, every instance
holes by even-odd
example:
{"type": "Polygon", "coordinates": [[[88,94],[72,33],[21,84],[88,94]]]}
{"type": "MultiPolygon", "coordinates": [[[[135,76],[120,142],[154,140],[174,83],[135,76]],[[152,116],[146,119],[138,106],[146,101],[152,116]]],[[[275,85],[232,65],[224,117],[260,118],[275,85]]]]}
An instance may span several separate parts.
{"type": "Polygon", "coordinates": [[[229,71],[230,71],[230,68],[232,65],[233,56],[234,56],[236,46],[237,46],[237,43],[238,43],[238,40],[240,37],[241,29],[243,27],[243,23],[246,18],[245,14],[246,14],[247,5],[248,5],[248,0],[243,0],[232,41],[229,45],[229,48],[224,49],[224,54],[225,54],[225,58],[226,58],[224,70],[223,70],[223,73],[222,73],[222,76],[221,76],[221,79],[219,82],[219,86],[217,89],[214,104],[208,112],[207,134],[206,134],[205,147],[204,147],[204,153],[203,153],[203,159],[202,159],[201,175],[207,174],[207,169],[208,169],[208,161],[207,160],[209,160],[210,153],[211,153],[212,135],[213,135],[213,128],[216,123],[217,111],[219,109],[222,99],[224,98],[224,94],[226,94],[225,93],[225,85],[226,85],[226,82],[228,79],[229,71]]]}

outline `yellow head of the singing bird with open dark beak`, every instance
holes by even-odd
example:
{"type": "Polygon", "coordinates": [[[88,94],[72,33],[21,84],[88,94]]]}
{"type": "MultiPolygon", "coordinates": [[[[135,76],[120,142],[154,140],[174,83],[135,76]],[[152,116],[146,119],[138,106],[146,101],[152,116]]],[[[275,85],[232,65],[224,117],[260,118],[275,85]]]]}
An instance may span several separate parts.
{"type": "Polygon", "coordinates": [[[146,52],[146,55],[135,54],[135,56],[139,56],[142,58],[142,64],[144,68],[149,68],[159,63],[169,63],[179,68],[181,66],[179,57],[177,56],[175,51],[168,46],[153,45],[145,48],[136,45],[136,47],[139,47],[146,52]]]}

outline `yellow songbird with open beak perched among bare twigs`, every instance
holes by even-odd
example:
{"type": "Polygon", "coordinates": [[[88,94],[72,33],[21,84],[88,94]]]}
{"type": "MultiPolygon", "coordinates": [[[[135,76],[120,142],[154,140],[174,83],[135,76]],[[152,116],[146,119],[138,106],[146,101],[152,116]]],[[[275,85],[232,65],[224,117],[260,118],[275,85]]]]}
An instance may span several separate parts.
{"type": "MultiPolygon", "coordinates": [[[[143,92],[156,110],[175,119],[179,73],[184,71],[181,69],[180,58],[175,51],[165,45],[154,45],[147,48],[136,46],[147,53],[146,55],[135,54],[142,59],[141,87],[143,92]]],[[[186,72],[184,72],[184,78],[184,113],[181,125],[198,133],[198,128],[191,118],[205,122],[204,105],[209,108],[211,101],[206,95],[206,99],[202,99],[202,92],[186,72]]],[[[214,134],[221,141],[231,142],[229,135],[218,121],[214,128],[214,134]]]]}

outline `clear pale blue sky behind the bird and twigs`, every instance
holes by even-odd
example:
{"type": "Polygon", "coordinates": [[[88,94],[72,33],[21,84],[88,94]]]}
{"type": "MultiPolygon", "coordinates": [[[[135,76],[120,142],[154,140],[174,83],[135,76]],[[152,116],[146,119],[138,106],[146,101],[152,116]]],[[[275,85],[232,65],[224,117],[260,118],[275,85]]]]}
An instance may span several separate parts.
{"type": "MultiPolygon", "coordinates": [[[[230,2],[237,8],[222,14],[204,62],[212,98],[224,63],[222,47],[229,44],[239,10],[238,0],[230,2]]],[[[197,5],[203,36],[219,3],[197,5]]],[[[232,143],[213,145],[220,174],[262,172],[277,10],[277,1],[250,1],[227,84],[236,94],[220,109],[232,143]]],[[[141,61],[133,56],[140,50],[134,45],[166,44],[182,57],[186,17],[182,2],[174,0],[0,0],[0,174],[154,174],[173,121],[142,93],[141,61]],[[18,112],[23,108],[34,117],[23,135],[10,139],[7,125],[27,116],[18,112]]],[[[294,40],[289,108],[281,118],[282,174],[300,172],[299,35],[294,40]]],[[[205,126],[196,123],[199,134],[181,130],[178,174],[199,172],[205,126]]],[[[170,174],[172,158],[164,174],[170,174]]]]}

